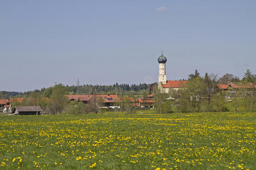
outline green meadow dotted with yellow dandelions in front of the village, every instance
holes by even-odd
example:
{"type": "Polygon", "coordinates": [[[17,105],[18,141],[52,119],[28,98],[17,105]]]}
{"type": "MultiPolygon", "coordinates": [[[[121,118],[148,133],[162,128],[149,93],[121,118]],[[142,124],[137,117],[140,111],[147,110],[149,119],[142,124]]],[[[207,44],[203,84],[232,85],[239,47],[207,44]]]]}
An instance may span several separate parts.
{"type": "Polygon", "coordinates": [[[0,116],[2,169],[255,169],[255,113],[0,116]]]}

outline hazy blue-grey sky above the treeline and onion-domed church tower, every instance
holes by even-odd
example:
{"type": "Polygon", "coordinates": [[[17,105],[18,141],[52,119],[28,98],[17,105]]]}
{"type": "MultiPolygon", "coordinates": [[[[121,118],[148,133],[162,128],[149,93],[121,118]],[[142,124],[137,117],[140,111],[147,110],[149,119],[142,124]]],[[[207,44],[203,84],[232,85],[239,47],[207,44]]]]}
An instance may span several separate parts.
{"type": "Polygon", "coordinates": [[[256,73],[256,1],[0,1],[0,91],[256,73]]]}

